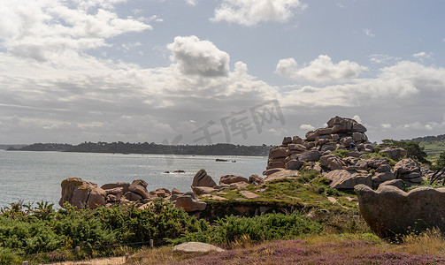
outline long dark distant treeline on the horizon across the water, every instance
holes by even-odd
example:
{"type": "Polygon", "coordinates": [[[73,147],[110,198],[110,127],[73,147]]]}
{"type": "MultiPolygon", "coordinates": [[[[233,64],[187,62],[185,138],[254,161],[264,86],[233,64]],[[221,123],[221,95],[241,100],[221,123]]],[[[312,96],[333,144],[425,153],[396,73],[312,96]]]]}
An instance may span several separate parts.
{"type": "Polygon", "coordinates": [[[9,148],[16,151],[61,151],[80,153],[121,153],[121,154],[159,154],[159,155],[268,155],[272,146],[240,146],[219,143],[214,145],[161,145],[155,143],[124,142],[83,142],[79,145],[59,143],[35,143],[23,148],[9,148]]]}

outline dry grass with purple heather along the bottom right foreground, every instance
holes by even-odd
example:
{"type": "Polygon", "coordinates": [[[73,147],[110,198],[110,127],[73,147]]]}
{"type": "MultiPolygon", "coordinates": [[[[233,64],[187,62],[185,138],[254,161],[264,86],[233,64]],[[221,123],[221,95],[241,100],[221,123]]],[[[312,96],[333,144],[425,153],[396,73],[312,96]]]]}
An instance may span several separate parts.
{"type": "Polygon", "coordinates": [[[445,242],[438,231],[407,236],[395,244],[371,233],[311,235],[255,244],[239,240],[226,252],[184,254],[172,247],[143,249],[131,264],[439,264],[445,242]]]}

